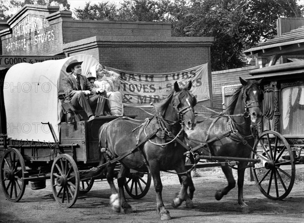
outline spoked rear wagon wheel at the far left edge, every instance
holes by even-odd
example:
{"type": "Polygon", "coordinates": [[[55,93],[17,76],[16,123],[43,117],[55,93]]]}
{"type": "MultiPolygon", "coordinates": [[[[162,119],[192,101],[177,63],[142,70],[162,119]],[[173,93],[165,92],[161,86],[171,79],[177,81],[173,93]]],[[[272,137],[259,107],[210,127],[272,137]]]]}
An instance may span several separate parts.
{"type": "Polygon", "coordinates": [[[1,185],[8,200],[19,201],[25,191],[23,180],[25,164],[21,153],[15,148],[5,151],[1,160],[1,185]]]}

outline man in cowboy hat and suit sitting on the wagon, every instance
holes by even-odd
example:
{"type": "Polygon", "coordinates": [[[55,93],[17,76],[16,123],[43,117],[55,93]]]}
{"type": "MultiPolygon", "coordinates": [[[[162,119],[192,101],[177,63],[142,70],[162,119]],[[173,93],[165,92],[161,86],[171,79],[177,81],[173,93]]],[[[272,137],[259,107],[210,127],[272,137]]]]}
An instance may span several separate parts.
{"type": "Polygon", "coordinates": [[[71,72],[70,75],[62,79],[64,87],[66,102],[70,101],[72,105],[79,109],[85,110],[89,117],[89,121],[95,119],[95,116],[103,115],[104,103],[102,103],[102,97],[97,94],[105,94],[101,88],[95,88],[86,78],[81,75],[82,69],[81,64],[77,60],[72,60],[66,67],[66,72],[71,72]],[[95,116],[90,106],[95,106],[95,116]]]}

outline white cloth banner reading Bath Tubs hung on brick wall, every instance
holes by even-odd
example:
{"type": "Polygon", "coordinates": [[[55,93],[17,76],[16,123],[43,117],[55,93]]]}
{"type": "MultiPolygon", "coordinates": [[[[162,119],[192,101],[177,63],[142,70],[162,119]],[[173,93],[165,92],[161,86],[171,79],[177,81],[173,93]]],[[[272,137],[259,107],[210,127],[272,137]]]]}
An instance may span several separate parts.
{"type": "Polygon", "coordinates": [[[120,74],[119,91],[123,94],[124,103],[149,105],[159,103],[174,89],[177,81],[184,87],[192,81],[191,92],[197,101],[210,99],[208,87],[208,64],[171,73],[134,73],[107,67],[120,74]]]}

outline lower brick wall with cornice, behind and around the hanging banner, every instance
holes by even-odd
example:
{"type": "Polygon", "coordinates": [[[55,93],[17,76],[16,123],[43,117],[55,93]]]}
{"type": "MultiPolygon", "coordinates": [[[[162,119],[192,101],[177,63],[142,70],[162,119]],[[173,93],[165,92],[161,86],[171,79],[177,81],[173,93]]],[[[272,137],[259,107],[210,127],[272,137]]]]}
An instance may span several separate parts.
{"type": "MultiPolygon", "coordinates": [[[[127,36],[94,36],[64,45],[68,56],[89,54],[101,64],[113,68],[142,72],[163,73],[180,71],[209,62],[209,38],[158,38],[127,36]],[[98,57],[96,50],[98,50],[98,57]]],[[[198,112],[206,112],[201,105],[210,106],[210,100],[199,102],[198,112]]],[[[153,107],[144,108],[154,113],[153,107]]],[[[125,107],[125,115],[136,115],[144,120],[149,115],[140,108],[125,107]]]]}

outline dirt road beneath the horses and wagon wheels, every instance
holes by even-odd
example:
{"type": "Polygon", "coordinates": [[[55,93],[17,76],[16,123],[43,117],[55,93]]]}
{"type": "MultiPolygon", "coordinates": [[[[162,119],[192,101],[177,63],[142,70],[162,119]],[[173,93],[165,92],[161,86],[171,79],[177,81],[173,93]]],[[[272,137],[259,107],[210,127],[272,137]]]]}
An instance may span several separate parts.
{"type": "MultiPolygon", "coordinates": [[[[162,174],[164,184],[163,199],[170,211],[171,220],[163,222],[304,222],[304,182],[297,180],[287,198],[283,201],[272,201],[265,198],[254,182],[245,181],[244,198],[251,212],[241,213],[237,202],[237,188],[233,189],[222,200],[216,201],[216,189],[226,185],[223,174],[205,172],[203,177],[195,177],[195,207],[187,209],[183,203],[179,208],[170,206],[180,185],[176,175],[162,174]]],[[[111,211],[108,205],[110,191],[106,181],[95,182],[92,190],[80,195],[71,208],[65,209],[52,197],[50,180],[46,189],[33,191],[26,187],[23,198],[18,203],[6,199],[0,194],[0,222],[160,222],[156,214],[156,193],[151,185],[148,194],[133,200],[127,196],[133,214],[118,214],[111,211]]]]}

